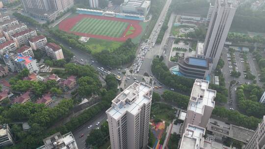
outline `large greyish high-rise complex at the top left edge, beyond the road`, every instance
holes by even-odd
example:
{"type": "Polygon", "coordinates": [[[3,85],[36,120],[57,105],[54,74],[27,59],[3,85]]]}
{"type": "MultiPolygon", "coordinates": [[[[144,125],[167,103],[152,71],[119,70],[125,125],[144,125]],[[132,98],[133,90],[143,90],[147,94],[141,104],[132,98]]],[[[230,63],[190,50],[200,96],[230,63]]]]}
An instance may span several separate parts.
{"type": "Polygon", "coordinates": [[[52,21],[74,5],[74,0],[21,0],[24,11],[35,18],[52,21]]]}

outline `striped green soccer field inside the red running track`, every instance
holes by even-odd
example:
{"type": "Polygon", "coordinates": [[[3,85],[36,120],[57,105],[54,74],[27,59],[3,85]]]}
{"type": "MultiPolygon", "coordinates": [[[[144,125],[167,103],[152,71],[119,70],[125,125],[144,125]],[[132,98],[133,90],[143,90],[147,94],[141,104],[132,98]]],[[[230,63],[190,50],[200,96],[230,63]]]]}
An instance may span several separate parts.
{"type": "Polygon", "coordinates": [[[84,18],[71,31],[108,37],[121,37],[128,25],[129,23],[126,22],[84,18]]]}

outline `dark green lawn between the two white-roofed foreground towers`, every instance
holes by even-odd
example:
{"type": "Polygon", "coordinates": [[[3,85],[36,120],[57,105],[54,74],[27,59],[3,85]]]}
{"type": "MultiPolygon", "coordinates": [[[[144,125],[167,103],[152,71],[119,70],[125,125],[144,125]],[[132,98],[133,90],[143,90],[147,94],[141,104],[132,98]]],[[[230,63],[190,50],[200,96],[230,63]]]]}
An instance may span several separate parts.
{"type": "Polygon", "coordinates": [[[176,109],[163,103],[154,103],[151,106],[151,117],[165,122],[172,122],[176,116],[176,109]]]}

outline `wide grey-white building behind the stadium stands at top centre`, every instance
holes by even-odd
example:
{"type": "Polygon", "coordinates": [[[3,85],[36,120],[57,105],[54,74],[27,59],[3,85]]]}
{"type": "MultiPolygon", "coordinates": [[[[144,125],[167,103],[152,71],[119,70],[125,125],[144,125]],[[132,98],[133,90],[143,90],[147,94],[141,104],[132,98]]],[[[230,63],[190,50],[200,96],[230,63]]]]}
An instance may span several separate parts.
{"type": "Polygon", "coordinates": [[[150,0],[125,0],[121,4],[121,13],[132,13],[146,17],[151,6],[150,0]]]}

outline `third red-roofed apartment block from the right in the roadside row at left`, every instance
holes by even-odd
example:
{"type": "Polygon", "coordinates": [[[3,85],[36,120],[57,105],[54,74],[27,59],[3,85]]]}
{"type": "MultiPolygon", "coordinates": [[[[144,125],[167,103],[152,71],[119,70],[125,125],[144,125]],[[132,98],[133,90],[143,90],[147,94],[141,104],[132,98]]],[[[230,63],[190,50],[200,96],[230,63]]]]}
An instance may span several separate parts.
{"type": "Polygon", "coordinates": [[[14,42],[16,42],[18,47],[20,47],[22,45],[28,45],[28,40],[35,36],[37,36],[36,30],[29,28],[21,32],[15,33],[11,37],[14,40],[14,42]]]}

